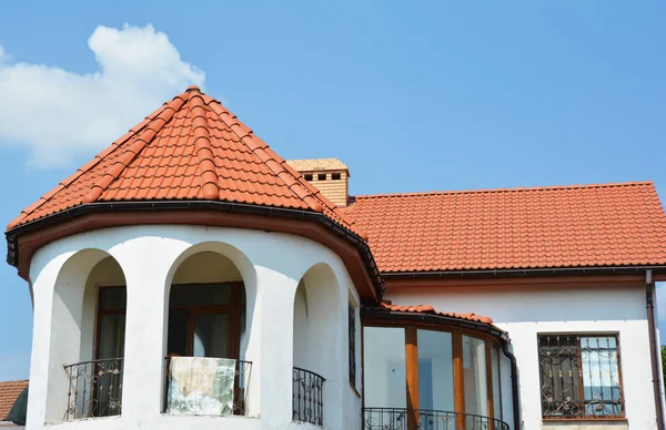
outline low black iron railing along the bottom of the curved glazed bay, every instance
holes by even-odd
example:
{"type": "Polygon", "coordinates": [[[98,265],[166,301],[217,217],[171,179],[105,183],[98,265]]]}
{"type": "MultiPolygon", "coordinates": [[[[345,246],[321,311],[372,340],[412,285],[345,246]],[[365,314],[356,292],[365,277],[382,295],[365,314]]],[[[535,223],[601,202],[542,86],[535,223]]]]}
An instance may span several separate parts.
{"type": "Polygon", "coordinates": [[[502,420],[441,410],[364,408],[363,430],[509,430],[502,420]]]}

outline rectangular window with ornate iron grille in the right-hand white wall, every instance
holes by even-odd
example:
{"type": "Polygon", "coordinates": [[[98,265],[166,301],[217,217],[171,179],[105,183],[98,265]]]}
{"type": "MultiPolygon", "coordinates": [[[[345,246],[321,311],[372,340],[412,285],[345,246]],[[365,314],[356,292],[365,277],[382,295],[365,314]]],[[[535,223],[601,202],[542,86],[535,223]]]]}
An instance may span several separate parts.
{"type": "Polygon", "coordinates": [[[624,417],[617,335],[539,335],[544,418],[624,417]]]}

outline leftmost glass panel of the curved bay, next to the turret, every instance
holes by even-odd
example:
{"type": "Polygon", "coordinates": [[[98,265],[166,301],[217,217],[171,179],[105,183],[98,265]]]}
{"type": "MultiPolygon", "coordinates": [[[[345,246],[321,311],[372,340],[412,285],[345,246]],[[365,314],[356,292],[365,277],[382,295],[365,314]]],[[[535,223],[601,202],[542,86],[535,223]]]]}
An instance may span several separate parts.
{"type": "Polygon", "coordinates": [[[406,408],[405,330],[365,327],[363,383],[366,408],[406,408]]]}

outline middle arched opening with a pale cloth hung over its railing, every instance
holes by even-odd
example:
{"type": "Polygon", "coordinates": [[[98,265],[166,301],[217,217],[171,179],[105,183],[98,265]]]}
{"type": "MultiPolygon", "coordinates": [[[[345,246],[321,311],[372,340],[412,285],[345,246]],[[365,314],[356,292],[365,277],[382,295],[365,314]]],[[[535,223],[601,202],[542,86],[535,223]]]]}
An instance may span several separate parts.
{"type": "Polygon", "coordinates": [[[245,414],[248,296],[219,250],[186,256],[173,274],[167,334],[167,413],[245,414]]]}

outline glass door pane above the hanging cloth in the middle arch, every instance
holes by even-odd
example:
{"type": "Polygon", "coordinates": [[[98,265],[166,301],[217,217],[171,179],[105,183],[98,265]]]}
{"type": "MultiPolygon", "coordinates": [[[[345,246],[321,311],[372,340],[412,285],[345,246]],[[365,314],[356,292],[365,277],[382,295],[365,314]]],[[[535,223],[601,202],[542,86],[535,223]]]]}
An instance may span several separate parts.
{"type": "Polygon", "coordinates": [[[226,357],[229,339],[226,314],[203,314],[194,317],[194,357],[226,357]]]}

